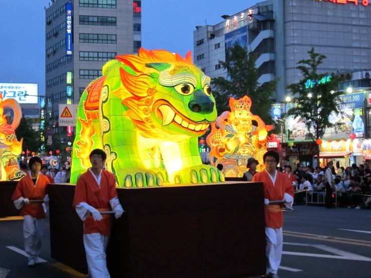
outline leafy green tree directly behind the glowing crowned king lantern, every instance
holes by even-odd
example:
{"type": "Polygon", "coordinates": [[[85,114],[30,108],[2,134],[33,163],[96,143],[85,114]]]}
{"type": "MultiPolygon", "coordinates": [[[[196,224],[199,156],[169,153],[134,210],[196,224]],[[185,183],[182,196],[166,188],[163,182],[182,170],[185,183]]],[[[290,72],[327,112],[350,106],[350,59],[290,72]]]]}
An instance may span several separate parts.
{"type": "Polygon", "coordinates": [[[266,124],[272,124],[270,111],[277,80],[260,86],[256,56],[238,44],[230,47],[229,51],[229,59],[219,61],[227,71],[227,78],[215,77],[211,82],[218,115],[230,110],[229,97],[237,99],[248,95],[253,102],[251,112],[260,116],[266,124]]]}

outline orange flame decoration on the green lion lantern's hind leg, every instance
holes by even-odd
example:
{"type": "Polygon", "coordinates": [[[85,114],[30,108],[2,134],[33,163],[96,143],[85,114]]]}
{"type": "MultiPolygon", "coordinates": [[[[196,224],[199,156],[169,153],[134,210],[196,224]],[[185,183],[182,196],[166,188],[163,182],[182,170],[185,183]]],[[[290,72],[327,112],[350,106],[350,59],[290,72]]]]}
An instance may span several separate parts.
{"type": "Polygon", "coordinates": [[[76,156],[81,160],[82,166],[88,169],[90,167],[89,154],[94,145],[91,137],[95,134],[95,128],[90,113],[86,113],[85,115],[87,116],[87,120],[84,120],[81,117],[78,118],[81,123],[81,133],[80,140],[76,142],[76,145],[80,150],[75,148],[75,151],[76,156]]]}

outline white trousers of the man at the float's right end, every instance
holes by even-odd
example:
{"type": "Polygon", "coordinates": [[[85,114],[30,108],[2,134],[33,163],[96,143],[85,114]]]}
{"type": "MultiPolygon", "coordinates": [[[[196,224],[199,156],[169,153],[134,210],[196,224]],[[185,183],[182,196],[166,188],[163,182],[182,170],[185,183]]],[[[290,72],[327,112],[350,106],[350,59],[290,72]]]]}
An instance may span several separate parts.
{"type": "Polygon", "coordinates": [[[282,257],[282,228],[273,229],[266,227],[266,241],[267,274],[277,274],[282,257]]]}

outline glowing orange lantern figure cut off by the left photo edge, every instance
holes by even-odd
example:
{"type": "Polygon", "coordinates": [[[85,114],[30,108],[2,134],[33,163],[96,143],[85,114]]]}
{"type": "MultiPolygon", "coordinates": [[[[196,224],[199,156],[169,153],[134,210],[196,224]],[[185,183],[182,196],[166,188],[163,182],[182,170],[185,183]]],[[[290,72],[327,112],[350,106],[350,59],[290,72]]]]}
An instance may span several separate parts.
{"type": "Polygon", "coordinates": [[[26,174],[19,169],[17,157],[22,152],[22,142],[17,140],[15,129],[20,124],[22,114],[19,103],[14,99],[3,101],[3,94],[0,93],[0,158],[1,171],[0,180],[17,181],[26,174]],[[4,108],[11,108],[14,112],[12,124],[8,124],[7,115],[3,115],[4,108]]]}

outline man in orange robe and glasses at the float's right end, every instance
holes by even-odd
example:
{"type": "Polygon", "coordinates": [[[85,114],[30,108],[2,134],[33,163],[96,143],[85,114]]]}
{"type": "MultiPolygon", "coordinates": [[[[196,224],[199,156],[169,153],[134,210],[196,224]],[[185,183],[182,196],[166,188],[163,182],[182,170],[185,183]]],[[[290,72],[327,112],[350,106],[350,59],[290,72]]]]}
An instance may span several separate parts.
{"type": "Polygon", "coordinates": [[[257,173],[253,182],[263,182],[266,219],[266,257],[267,271],[265,277],[277,278],[278,268],[282,257],[282,226],[283,214],[281,208],[292,205],[294,187],[287,175],[276,170],[280,155],[275,151],[268,151],[263,156],[266,169],[257,173]],[[270,201],[281,201],[281,204],[269,204],[270,201]]]}

